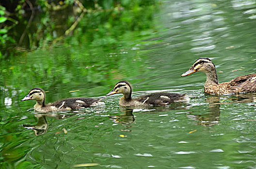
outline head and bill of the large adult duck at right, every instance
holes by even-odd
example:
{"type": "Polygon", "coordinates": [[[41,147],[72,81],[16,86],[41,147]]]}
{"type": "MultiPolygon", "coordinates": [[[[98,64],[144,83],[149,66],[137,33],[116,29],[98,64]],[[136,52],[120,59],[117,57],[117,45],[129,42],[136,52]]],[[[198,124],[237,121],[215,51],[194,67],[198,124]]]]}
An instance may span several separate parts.
{"type": "Polygon", "coordinates": [[[189,70],[187,70],[185,73],[183,73],[181,76],[188,76],[192,73],[195,72],[204,72],[204,73],[209,73],[211,71],[216,71],[215,70],[215,65],[212,63],[211,59],[208,57],[201,57],[195,61],[195,63],[192,65],[189,70]]]}

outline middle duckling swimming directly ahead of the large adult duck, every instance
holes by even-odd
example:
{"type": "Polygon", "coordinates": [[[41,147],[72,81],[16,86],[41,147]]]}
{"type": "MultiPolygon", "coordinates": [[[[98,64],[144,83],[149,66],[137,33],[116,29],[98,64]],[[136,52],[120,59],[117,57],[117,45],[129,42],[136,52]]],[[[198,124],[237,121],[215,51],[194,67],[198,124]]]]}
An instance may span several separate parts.
{"type": "Polygon", "coordinates": [[[152,93],[145,96],[132,98],[132,86],[127,81],[118,82],[114,89],[106,96],[117,93],[123,94],[120,98],[119,104],[121,106],[151,106],[151,105],[168,105],[176,101],[188,101],[189,98],[185,94],[180,93],[152,93]]]}

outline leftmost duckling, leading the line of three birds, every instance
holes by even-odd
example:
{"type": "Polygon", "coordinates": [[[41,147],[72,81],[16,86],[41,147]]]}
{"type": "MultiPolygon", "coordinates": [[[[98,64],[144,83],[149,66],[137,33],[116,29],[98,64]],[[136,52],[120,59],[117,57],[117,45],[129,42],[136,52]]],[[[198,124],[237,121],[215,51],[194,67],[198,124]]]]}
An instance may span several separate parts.
{"type": "Polygon", "coordinates": [[[36,100],[34,110],[37,112],[64,111],[83,109],[90,106],[101,104],[100,99],[94,98],[68,98],[45,104],[45,92],[41,88],[33,88],[29,94],[20,101],[36,100]]]}

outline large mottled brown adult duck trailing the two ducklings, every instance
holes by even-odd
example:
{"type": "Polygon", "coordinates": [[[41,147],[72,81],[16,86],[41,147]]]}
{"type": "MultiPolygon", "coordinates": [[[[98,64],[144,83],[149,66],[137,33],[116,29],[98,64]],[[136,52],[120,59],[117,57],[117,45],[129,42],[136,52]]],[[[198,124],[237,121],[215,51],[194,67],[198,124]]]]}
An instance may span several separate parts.
{"type": "Polygon", "coordinates": [[[219,84],[215,65],[208,57],[201,57],[181,76],[188,76],[197,71],[206,74],[205,93],[222,95],[256,92],[256,73],[238,76],[230,82],[219,84]]]}

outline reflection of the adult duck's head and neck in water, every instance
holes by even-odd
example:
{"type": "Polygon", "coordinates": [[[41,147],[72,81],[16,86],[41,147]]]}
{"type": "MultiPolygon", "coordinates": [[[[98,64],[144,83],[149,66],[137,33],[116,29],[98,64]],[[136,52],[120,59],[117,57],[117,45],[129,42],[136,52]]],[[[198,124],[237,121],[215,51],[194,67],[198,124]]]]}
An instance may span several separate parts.
{"type": "Polygon", "coordinates": [[[209,96],[206,98],[209,103],[209,113],[203,115],[190,114],[189,117],[198,121],[198,125],[202,126],[212,126],[219,123],[220,120],[220,97],[219,96],[209,96]]]}

